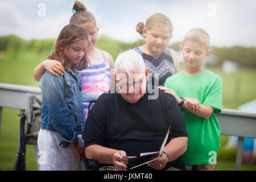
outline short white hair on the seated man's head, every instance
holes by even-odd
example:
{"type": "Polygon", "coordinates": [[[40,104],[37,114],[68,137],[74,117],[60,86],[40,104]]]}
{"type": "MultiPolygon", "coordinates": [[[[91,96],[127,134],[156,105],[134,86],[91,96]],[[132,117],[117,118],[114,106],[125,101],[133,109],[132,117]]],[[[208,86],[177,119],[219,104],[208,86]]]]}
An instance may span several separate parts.
{"type": "Polygon", "coordinates": [[[130,71],[134,70],[135,65],[139,64],[141,68],[141,72],[143,73],[146,69],[143,57],[135,50],[130,49],[128,51],[124,51],[119,53],[117,59],[115,59],[114,69],[115,75],[117,75],[117,69],[122,68],[125,69],[129,74],[130,71]]]}

